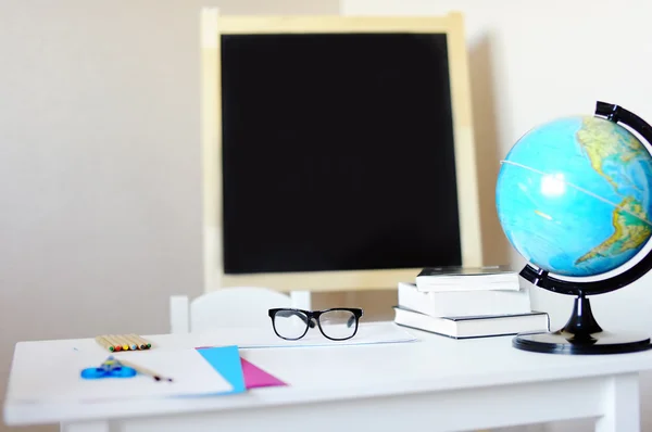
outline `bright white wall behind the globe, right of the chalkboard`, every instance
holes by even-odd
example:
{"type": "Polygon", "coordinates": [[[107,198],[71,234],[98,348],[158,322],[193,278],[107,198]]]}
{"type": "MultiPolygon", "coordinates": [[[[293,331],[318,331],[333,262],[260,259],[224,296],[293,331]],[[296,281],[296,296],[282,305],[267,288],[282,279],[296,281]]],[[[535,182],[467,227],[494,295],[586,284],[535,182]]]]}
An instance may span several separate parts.
{"type": "MultiPolygon", "coordinates": [[[[652,123],[652,2],[645,0],[342,0],[348,15],[424,15],[461,11],[466,18],[476,139],[480,157],[484,227],[503,256],[496,231],[493,191],[500,157],[532,126],[560,115],[592,114],[597,100],[617,103],[652,123]]],[[[523,261],[511,252],[515,263],[523,261]]],[[[606,330],[652,334],[652,275],[591,300],[606,330]]],[[[534,289],[534,306],[563,326],[572,300],[534,289]]],[[[645,376],[643,409],[652,409],[645,376]]],[[[563,397],[563,395],[560,395],[563,397]]],[[[652,430],[652,412],[643,412],[652,430]]],[[[559,431],[592,430],[590,422],[555,424],[559,431]]]]}

